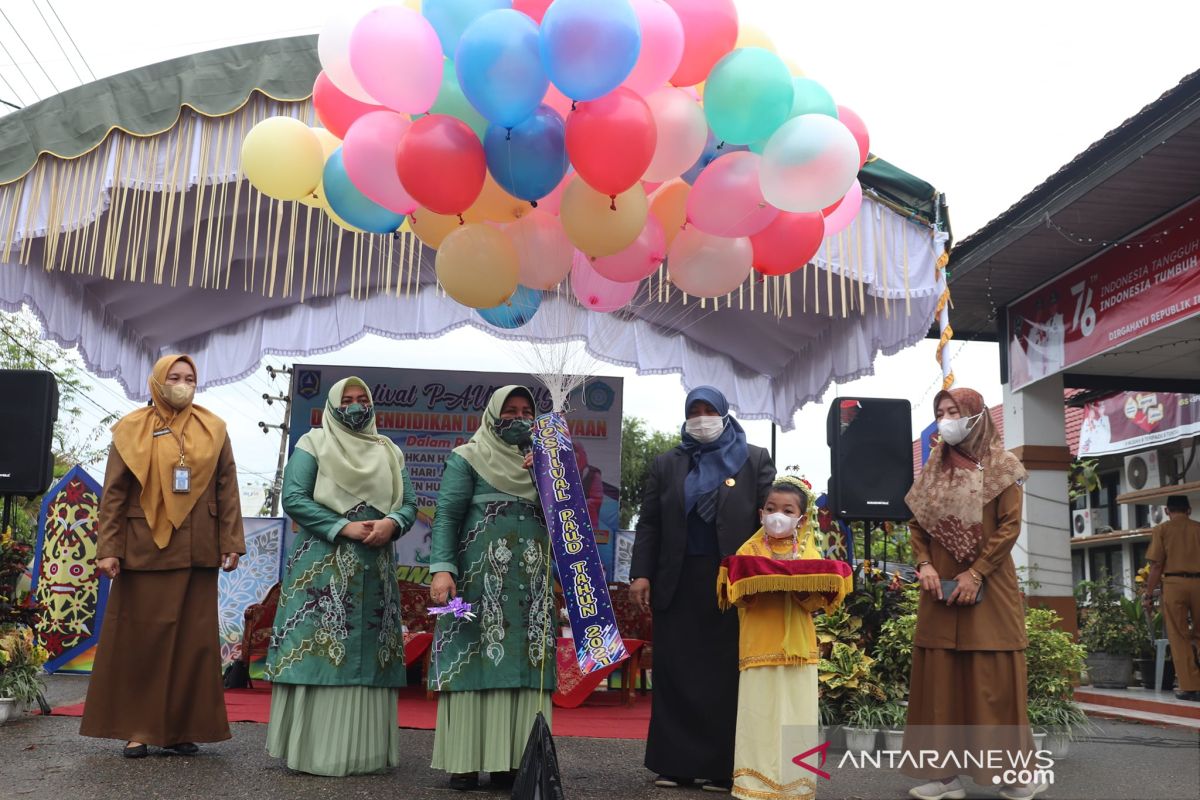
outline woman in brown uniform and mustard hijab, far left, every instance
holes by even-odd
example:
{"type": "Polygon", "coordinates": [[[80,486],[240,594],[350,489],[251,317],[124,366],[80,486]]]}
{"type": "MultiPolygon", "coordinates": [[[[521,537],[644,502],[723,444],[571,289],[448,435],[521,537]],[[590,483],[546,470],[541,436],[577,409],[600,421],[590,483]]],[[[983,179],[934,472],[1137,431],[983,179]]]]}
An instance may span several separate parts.
{"type": "Polygon", "coordinates": [[[196,365],[158,360],[152,402],[113,426],[97,567],[113,579],[88,687],[85,736],[196,753],[228,739],[217,639],[217,569],[246,552],[226,425],[192,404],[196,365]]]}

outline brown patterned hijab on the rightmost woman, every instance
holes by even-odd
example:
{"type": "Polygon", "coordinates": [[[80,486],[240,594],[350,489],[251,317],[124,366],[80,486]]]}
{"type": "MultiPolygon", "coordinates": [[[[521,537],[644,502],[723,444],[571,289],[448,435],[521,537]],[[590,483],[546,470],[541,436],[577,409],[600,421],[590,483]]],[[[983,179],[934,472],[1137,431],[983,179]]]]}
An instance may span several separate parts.
{"type": "Polygon", "coordinates": [[[973,389],[937,392],[935,415],[938,403],[947,397],[959,407],[961,416],[982,416],[959,445],[943,441],[929,453],[905,501],[920,527],[959,564],[971,564],[983,545],[983,507],[1013,483],[1024,481],[1025,468],[1004,450],[979,392],[973,389]]]}

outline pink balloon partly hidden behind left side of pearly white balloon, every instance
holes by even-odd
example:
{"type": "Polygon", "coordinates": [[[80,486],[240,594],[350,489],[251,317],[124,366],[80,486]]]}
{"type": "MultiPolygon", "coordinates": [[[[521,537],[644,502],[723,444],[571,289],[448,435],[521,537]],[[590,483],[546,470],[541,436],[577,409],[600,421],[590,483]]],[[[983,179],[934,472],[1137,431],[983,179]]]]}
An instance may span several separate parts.
{"type": "Polygon", "coordinates": [[[762,156],[742,150],[712,162],[688,196],[688,219],[714,236],[750,236],[769,225],[779,209],[758,186],[762,156]]]}

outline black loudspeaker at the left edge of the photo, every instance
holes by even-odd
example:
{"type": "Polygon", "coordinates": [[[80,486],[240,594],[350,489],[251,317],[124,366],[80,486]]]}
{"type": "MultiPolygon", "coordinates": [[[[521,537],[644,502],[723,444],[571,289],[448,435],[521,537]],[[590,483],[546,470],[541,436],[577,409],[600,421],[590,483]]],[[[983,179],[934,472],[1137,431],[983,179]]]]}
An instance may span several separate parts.
{"type": "Polygon", "coordinates": [[[0,495],[41,494],[54,479],[50,443],[59,381],[42,369],[0,369],[0,495]]]}

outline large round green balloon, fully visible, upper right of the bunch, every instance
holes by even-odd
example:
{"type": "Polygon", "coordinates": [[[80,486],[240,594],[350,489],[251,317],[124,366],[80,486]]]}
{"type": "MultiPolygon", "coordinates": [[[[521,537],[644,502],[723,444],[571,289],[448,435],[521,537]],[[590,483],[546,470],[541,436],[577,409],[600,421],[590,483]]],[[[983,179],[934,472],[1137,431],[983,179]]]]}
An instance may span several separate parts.
{"type": "Polygon", "coordinates": [[[704,116],[728,144],[767,139],[792,113],[796,91],[782,59],[758,47],[728,53],[704,83],[704,116]]]}

